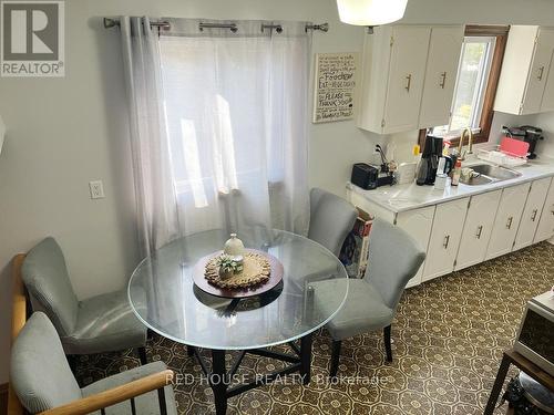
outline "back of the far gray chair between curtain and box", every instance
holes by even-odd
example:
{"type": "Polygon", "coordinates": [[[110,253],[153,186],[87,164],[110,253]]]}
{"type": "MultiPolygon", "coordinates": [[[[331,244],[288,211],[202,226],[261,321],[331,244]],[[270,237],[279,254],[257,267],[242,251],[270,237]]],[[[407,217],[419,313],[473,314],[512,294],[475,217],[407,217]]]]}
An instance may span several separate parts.
{"type": "Polygon", "coordinates": [[[312,188],[308,238],[322,245],[338,257],[357,216],[356,208],[341,197],[312,188]]]}

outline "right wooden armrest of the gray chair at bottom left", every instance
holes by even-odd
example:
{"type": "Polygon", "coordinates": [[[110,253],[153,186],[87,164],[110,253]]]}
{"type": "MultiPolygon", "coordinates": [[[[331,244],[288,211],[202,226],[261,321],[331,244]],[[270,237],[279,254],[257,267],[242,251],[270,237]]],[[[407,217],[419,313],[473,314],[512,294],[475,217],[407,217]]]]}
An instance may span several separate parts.
{"type": "Polygon", "coordinates": [[[69,404],[41,412],[40,415],[84,415],[101,408],[119,404],[132,397],[140,396],[151,391],[158,390],[171,384],[173,371],[166,370],[160,373],[138,378],[125,385],[116,386],[98,394],[70,402],[69,404]]]}

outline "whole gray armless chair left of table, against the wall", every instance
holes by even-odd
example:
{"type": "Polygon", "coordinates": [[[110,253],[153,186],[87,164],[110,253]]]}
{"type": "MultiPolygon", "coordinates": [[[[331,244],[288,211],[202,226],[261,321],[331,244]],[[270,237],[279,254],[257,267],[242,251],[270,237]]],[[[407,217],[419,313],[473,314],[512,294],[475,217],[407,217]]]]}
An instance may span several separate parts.
{"type": "MultiPolygon", "coordinates": [[[[146,328],[133,313],[126,290],[78,301],[63,252],[53,238],[29,251],[21,272],[32,309],[49,317],[66,354],[137,347],[141,362],[146,363],[146,328]]],[[[142,304],[146,307],[145,295],[142,304]]]]}

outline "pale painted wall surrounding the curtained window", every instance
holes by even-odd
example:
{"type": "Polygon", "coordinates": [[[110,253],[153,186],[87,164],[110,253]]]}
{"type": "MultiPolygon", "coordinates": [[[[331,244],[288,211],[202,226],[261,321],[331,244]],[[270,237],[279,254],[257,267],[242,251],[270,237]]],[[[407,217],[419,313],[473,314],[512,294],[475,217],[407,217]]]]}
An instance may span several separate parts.
{"type": "MultiPolygon", "coordinates": [[[[334,0],[68,0],[66,76],[0,77],[0,114],[9,128],[0,155],[0,383],[8,378],[9,262],[45,235],[65,251],[80,298],[124,286],[138,261],[116,30],[103,15],[329,22],[314,52],[360,51],[363,29],[338,22],[334,0]],[[88,183],[106,198],[90,200],[88,183]]],[[[554,24],[551,0],[410,0],[407,23],[554,24]]],[[[353,162],[376,141],[352,122],[310,125],[310,181],[343,194],[353,162]]]]}

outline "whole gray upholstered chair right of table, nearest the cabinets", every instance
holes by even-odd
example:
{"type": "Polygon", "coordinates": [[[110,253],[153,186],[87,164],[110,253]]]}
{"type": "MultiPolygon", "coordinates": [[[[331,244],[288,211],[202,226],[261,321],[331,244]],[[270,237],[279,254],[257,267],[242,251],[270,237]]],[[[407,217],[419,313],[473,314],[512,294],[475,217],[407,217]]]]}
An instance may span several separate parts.
{"type": "MultiPolygon", "coordinates": [[[[341,341],[375,330],[383,330],[387,361],[392,361],[391,323],[408,281],[418,272],[425,253],[402,229],[376,219],[369,236],[369,263],[363,279],[350,279],[348,297],[337,315],[327,323],[332,336],[330,375],[337,375],[341,341]]],[[[325,308],[335,294],[334,284],[315,287],[316,301],[325,308]]]]}

